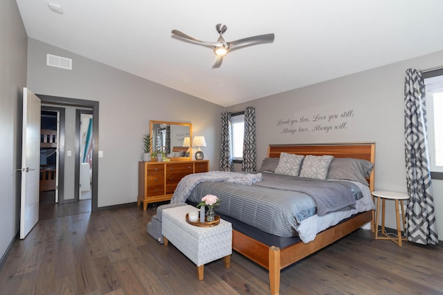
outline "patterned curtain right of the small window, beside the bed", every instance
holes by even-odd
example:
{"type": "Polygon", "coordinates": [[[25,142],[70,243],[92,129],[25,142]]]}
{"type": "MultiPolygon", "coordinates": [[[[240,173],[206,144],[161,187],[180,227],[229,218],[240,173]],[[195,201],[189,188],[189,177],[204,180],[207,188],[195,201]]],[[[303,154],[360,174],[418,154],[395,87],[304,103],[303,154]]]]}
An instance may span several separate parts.
{"type": "Polygon", "coordinates": [[[251,172],[257,169],[255,152],[255,108],[244,109],[244,138],[242,171],[251,172]]]}

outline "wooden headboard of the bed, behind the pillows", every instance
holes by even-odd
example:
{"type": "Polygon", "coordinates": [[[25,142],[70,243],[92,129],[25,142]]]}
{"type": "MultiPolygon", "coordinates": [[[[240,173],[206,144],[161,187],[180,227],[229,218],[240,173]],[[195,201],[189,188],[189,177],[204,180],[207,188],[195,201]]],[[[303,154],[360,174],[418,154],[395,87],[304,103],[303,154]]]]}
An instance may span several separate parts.
{"type": "MultiPolygon", "coordinates": [[[[363,159],[374,163],[375,143],[313,143],[300,145],[269,145],[268,157],[278,158],[281,152],[289,154],[302,154],[323,156],[330,154],[336,158],[363,159]]],[[[371,192],[374,190],[374,169],[367,177],[371,192]]]]}

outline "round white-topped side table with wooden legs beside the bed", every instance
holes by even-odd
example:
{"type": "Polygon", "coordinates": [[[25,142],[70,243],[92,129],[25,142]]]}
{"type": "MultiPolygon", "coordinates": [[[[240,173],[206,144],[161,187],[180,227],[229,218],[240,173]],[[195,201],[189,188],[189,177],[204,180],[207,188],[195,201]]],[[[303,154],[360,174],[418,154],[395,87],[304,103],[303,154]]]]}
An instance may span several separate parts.
{"type": "Polygon", "coordinates": [[[389,190],[374,190],[372,195],[377,198],[377,220],[375,220],[375,239],[376,240],[391,240],[401,247],[401,241],[406,241],[406,238],[401,238],[401,226],[399,215],[399,204],[401,204],[401,217],[403,221],[403,229],[405,229],[405,215],[403,200],[409,199],[409,196],[405,193],[391,192],[389,190]],[[381,234],[383,237],[379,237],[379,207],[381,199],[381,234]],[[385,201],[386,199],[393,199],[395,201],[395,217],[397,219],[397,238],[390,237],[385,233],[385,201]]]}

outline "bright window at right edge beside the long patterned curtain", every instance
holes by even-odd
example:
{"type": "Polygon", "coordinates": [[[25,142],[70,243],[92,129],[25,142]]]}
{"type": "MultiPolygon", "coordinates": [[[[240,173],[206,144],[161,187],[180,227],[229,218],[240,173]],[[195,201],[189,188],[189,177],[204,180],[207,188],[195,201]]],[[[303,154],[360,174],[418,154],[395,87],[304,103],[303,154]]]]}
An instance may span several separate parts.
{"type": "MultiPolygon", "coordinates": [[[[443,172],[443,75],[442,70],[424,73],[429,157],[432,172],[443,172]],[[440,75],[438,75],[440,74],[440,75]]],[[[440,175],[440,173],[438,173],[440,175]]],[[[433,178],[436,176],[433,173],[433,178]]],[[[440,175],[443,176],[443,175],[440,175]]]]}

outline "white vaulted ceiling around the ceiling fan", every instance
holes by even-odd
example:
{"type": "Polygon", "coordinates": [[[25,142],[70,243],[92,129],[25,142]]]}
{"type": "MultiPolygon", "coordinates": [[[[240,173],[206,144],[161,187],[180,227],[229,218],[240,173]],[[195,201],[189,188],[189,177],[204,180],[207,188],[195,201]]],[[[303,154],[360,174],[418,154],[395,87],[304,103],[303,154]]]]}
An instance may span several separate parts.
{"type": "Polygon", "coordinates": [[[442,0],[17,4],[30,38],[224,107],[443,50],[442,0]],[[171,34],[216,42],[219,23],[228,26],[227,42],[266,33],[275,41],[232,51],[211,69],[212,49],[171,34]]]}

